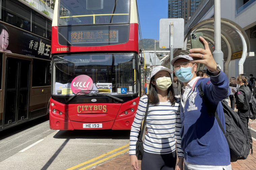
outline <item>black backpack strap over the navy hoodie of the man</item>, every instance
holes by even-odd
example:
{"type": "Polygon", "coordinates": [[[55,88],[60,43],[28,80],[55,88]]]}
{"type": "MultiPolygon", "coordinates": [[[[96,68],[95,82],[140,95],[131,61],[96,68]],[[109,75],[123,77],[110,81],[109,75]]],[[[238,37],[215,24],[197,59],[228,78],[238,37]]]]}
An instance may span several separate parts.
{"type": "Polygon", "coordinates": [[[213,108],[213,106],[210,104],[210,102],[207,99],[207,97],[204,96],[204,93],[203,93],[203,90],[202,90],[202,82],[198,86],[198,91],[199,91],[199,95],[202,98],[202,101],[203,101],[204,105],[206,106],[208,115],[210,117],[212,117],[213,112],[211,112],[211,110],[215,110],[214,116],[215,116],[215,118],[216,118],[216,120],[217,120],[217,122],[218,122],[218,124],[220,126],[221,131],[223,132],[223,134],[225,134],[226,132],[225,132],[225,130],[224,130],[224,128],[223,128],[223,126],[222,126],[222,124],[220,122],[220,119],[219,119],[219,117],[218,117],[218,115],[216,113],[216,109],[213,108]]]}

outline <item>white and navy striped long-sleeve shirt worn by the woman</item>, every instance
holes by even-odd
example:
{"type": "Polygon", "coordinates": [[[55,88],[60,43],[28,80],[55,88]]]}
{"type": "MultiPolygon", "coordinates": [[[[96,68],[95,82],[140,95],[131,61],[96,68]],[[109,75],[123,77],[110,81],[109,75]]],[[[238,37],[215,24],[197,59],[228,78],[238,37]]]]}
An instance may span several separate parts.
{"type": "MultiPolygon", "coordinates": [[[[140,98],[131,127],[129,155],[136,154],[136,142],[142,120],[145,116],[147,102],[148,97],[146,95],[140,98]]],[[[181,149],[179,99],[177,99],[174,106],[171,106],[169,101],[159,102],[158,105],[149,105],[146,127],[148,128],[148,134],[143,142],[145,152],[169,154],[175,151],[175,144],[177,143],[178,156],[184,157],[181,149]]]]}

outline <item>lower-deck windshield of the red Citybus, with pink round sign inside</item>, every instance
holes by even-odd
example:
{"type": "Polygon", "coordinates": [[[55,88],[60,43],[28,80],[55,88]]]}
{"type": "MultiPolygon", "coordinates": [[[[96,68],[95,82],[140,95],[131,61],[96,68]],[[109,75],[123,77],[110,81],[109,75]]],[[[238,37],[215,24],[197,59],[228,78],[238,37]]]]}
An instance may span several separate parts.
{"type": "Polygon", "coordinates": [[[81,54],[53,57],[53,95],[138,93],[136,54],[81,54]]]}

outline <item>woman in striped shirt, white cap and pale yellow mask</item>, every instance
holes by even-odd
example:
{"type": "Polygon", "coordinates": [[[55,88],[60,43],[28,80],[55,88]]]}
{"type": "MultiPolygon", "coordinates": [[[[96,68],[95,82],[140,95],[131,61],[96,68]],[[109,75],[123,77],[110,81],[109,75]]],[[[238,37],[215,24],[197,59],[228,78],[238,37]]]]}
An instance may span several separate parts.
{"type": "MultiPolygon", "coordinates": [[[[144,152],[141,161],[143,170],[173,170],[177,155],[183,156],[181,150],[180,100],[174,97],[172,71],[163,66],[155,67],[150,76],[149,95],[140,98],[137,112],[130,133],[129,155],[133,169],[138,170],[136,142],[144,119],[147,102],[150,101],[146,127],[148,133],[143,143],[144,152]],[[175,140],[176,139],[176,140],[175,140]]],[[[183,165],[178,165],[183,167],[183,165]]]]}

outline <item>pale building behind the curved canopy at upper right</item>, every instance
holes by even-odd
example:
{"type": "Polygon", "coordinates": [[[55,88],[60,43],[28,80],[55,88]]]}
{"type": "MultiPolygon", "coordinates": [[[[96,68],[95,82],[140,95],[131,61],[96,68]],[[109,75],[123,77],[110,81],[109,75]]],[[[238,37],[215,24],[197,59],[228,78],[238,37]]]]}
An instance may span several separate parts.
{"type": "MultiPolygon", "coordinates": [[[[229,19],[245,31],[249,44],[248,52],[256,52],[256,0],[225,0],[220,1],[221,18],[229,19]]],[[[184,32],[187,34],[195,24],[209,18],[214,18],[214,0],[203,0],[197,8],[197,11],[191,16],[190,20],[184,27],[184,32]]],[[[240,44],[242,42],[233,41],[232,43],[240,44]]],[[[224,49],[222,49],[224,50],[224,49]]],[[[232,51],[235,54],[237,51],[232,51]]],[[[225,57],[225,56],[224,56],[225,57]]],[[[238,63],[241,58],[232,59],[228,65],[228,78],[236,77],[238,73],[238,63]]],[[[225,61],[224,61],[225,63],[225,61]]],[[[247,56],[243,64],[243,73],[249,77],[249,74],[256,76],[256,57],[247,56]]]]}

